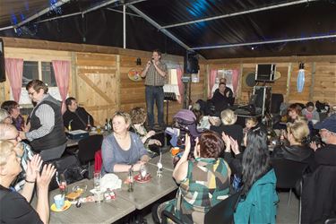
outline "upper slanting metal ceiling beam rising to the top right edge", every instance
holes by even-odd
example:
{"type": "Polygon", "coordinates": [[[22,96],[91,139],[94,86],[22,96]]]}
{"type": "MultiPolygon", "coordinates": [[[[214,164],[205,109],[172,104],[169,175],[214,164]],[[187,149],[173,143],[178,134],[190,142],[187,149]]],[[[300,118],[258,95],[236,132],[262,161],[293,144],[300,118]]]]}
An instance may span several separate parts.
{"type": "Polygon", "coordinates": [[[205,19],[201,19],[201,20],[195,20],[195,21],[190,21],[190,22],[180,22],[180,23],[176,23],[176,24],[163,26],[161,29],[168,29],[168,28],[172,28],[172,27],[185,26],[185,25],[194,24],[194,23],[198,23],[198,22],[208,22],[208,21],[213,21],[213,20],[219,20],[219,19],[233,17],[233,16],[237,16],[237,15],[248,14],[248,13],[256,13],[256,12],[266,11],[266,10],[270,10],[270,9],[276,9],[276,8],[291,6],[291,5],[295,5],[295,4],[304,4],[304,3],[314,2],[314,1],[318,1],[318,0],[299,0],[299,1],[284,3],[284,4],[274,4],[274,5],[265,6],[265,7],[257,8],[257,9],[246,10],[246,11],[242,11],[242,12],[238,12],[238,13],[228,13],[228,14],[213,16],[213,17],[209,17],[209,18],[205,18],[205,19]]]}

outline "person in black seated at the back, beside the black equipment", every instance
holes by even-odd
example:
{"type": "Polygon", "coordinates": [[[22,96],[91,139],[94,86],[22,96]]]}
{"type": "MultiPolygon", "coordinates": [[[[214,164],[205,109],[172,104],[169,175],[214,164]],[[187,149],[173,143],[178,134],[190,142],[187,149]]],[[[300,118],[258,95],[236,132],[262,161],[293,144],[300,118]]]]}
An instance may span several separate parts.
{"type": "Polygon", "coordinates": [[[233,99],[233,92],[229,89],[225,82],[220,82],[219,90],[216,90],[211,99],[212,104],[216,108],[216,112],[220,114],[220,112],[228,106],[231,105],[233,99]]]}

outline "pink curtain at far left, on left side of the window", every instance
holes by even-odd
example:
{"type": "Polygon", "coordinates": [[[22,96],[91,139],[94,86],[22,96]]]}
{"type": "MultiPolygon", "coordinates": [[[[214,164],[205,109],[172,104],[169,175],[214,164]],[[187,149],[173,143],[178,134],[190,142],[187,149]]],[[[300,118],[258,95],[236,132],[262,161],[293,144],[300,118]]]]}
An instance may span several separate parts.
{"type": "Polygon", "coordinates": [[[5,73],[11,84],[13,98],[16,102],[19,102],[22,89],[23,59],[5,58],[4,64],[5,73]]]}

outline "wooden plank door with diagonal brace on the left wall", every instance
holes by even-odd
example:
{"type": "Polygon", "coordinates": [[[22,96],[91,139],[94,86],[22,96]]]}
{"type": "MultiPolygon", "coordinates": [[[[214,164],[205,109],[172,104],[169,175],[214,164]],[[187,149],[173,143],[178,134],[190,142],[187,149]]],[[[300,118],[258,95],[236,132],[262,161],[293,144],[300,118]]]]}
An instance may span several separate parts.
{"type": "Polygon", "coordinates": [[[104,125],[118,109],[118,56],[76,53],[73,95],[95,119],[104,125]]]}

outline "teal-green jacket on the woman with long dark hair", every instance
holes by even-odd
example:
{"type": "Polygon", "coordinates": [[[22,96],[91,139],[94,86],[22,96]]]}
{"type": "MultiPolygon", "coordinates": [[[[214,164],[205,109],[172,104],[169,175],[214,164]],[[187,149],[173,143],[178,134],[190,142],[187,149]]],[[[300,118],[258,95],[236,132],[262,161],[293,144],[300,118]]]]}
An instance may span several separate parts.
{"type": "Polygon", "coordinates": [[[234,214],[236,224],[275,223],[279,202],[276,182],[274,169],[271,169],[252,185],[246,199],[238,202],[234,214]]]}

